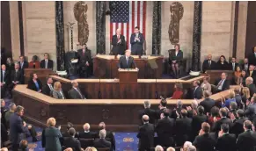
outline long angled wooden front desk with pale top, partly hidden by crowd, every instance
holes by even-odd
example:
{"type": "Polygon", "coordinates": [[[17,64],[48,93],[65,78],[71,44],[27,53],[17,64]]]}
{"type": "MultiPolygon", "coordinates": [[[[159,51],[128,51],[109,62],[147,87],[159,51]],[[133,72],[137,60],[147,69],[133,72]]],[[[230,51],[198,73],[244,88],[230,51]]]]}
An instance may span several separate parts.
{"type": "MultiPolygon", "coordinates": [[[[218,102],[227,97],[229,90],[217,93],[211,98],[218,102]]],[[[98,128],[104,121],[107,129],[112,131],[137,131],[141,119],[138,111],[143,109],[145,99],[55,99],[33,90],[26,85],[17,85],[13,90],[13,102],[25,107],[24,118],[35,126],[46,126],[47,119],[55,117],[57,125],[65,128],[67,122],[81,130],[84,123],[90,123],[91,129],[98,128]]],[[[151,108],[157,109],[160,99],[150,99],[151,108]]],[[[176,99],[168,99],[167,107],[173,108],[176,99]]],[[[190,105],[193,100],[183,99],[182,103],[190,105]]]]}

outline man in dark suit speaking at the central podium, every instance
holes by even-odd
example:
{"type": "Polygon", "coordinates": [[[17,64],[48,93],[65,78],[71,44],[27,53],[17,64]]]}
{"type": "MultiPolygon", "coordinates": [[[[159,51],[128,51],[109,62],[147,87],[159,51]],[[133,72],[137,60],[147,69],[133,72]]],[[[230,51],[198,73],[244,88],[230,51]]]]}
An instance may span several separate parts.
{"type": "Polygon", "coordinates": [[[125,55],[121,56],[119,59],[119,63],[118,63],[118,68],[135,68],[138,69],[136,64],[135,64],[135,60],[131,55],[131,51],[130,50],[126,50],[125,51],[125,55]]]}

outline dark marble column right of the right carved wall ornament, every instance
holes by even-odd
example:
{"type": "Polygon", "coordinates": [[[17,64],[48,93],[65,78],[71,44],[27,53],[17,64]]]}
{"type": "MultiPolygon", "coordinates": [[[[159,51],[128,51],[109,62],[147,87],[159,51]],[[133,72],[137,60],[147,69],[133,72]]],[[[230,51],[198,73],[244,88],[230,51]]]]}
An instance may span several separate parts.
{"type": "Polygon", "coordinates": [[[194,25],[193,25],[193,52],[192,52],[192,70],[200,71],[201,57],[201,8],[202,2],[194,2],[194,25]]]}

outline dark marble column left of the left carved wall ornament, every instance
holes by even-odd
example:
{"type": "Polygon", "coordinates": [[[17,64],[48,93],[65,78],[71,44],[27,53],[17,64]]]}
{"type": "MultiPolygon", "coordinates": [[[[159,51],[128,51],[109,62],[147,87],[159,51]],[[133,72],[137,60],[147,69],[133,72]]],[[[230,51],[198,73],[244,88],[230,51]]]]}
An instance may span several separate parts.
{"type": "Polygon", "coordinates": [[[55,2],[57,70],[65,69],[63,2],[55,2]]]}

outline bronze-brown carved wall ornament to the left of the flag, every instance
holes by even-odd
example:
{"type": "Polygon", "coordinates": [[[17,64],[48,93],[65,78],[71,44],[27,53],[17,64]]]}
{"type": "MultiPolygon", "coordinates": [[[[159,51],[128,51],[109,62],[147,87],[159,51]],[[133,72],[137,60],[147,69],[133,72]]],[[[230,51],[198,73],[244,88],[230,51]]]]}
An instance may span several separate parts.
{"type": "Polygon", "coordinates": [[[88,42],[89,25],[87,23],[88,6],[83,1],[79,1],[74,5],[74,16],[78,23],[78,41],[81,45],[88,42]]]}

